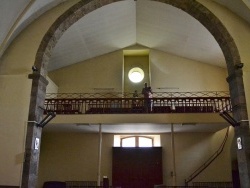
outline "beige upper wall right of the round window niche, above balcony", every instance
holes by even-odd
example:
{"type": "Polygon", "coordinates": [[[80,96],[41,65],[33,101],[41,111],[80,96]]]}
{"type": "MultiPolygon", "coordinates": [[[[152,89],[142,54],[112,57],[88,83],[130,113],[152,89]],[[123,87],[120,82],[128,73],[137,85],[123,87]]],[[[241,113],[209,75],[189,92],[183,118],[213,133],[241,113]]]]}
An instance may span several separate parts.
{"type": "Polygon", "coordinates": [[[151,85],[157,92],[228,91],[226,69],[161,51],[150,51],[151,85]],[[157,88],[179,88],[159,90],[157,88]]]}

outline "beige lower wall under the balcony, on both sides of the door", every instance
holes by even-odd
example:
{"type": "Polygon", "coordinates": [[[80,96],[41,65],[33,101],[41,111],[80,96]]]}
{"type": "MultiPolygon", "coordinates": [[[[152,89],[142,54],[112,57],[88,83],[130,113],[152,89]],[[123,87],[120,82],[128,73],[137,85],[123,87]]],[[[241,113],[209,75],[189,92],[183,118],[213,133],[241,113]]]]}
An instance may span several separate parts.
{"type": "MultiPolygon", "coordinates": [[[[221,145],[225,129],[218,133],[175,133],[177,185],[191,175],[221,145]]],[[[97,180],[98,133],[44,132],[39,167],[39,187],[45,181],[97,180]]],[[[101,177],[112,182],[113,134],[103,134],[101,177]]],[[[194,181],[231,181],[230,147],[233,132],[219,158],[194,181]]],[[[163,179],[172,185],[171,134],[161,134],[163,147],[163,179]]]]}

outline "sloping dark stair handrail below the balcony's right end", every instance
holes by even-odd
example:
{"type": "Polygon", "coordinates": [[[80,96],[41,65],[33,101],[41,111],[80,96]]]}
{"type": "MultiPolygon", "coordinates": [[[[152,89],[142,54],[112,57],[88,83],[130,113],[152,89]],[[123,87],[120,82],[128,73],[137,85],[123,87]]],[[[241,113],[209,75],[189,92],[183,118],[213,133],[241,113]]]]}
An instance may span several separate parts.
{"type": "Polygon", "coordinates": [[[185,180],[185,185],[188,186],[188,183],[191,182],[194,178],[196,178],[203,170],[205,170],[223,151],[224,146],[226,144],[227,138],[228,138],[228,133],[229,133],[229,127],[227,128],[225,138],[222,141],[222,144],[218,148],[218,150],[211,156],[209,159],[201,165],[196,171],[194,171],[188,178],[185,180]]]}

